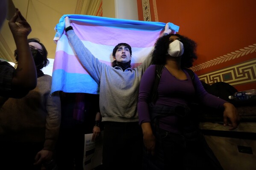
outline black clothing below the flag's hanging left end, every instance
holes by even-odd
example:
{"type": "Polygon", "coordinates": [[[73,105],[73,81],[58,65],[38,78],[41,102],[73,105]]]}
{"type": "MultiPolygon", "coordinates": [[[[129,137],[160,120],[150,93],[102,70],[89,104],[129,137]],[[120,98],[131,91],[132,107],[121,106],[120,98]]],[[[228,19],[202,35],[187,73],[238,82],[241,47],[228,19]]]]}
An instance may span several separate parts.
{"type": "Polygon", "coordinates": [[[56,163],[59,170],[83,170],[85,134],[92,133],[98,95],[61,92],[60,97],[62,121],[56,144],[56,163]]]}

